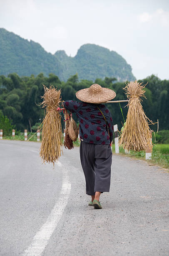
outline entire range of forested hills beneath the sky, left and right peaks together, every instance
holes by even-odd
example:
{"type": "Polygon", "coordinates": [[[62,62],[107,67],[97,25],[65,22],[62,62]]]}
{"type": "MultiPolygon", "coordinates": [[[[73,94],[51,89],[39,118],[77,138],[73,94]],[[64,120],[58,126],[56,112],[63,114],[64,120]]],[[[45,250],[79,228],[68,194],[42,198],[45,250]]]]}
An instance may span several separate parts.
{"type": "Polygon", "coordinates": [[[10,73],[19,76],[35,76],[41,72],[48,76],[53,73],[62,81],[72,74],[79,79],[94,81],[96,77],[116,77],[118,81],[135,80],[132,68],[115,51],[101,46],[85,44],[75,57],[67,56],[65,51],[50,54],[34,41],[28,41],[4,28],[0,28],[0,75],[10,73]]]}

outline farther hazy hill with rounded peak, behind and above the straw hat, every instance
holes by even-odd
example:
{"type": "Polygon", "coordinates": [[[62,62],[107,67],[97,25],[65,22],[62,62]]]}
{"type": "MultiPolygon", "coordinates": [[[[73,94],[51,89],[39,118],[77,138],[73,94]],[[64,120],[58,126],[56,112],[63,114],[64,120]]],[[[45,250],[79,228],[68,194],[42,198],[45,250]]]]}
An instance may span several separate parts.
{"type": "Polygon", "coordinates": [[[74,58],[67,56],[65,51],[57,51],[55,56],[62,63],[62,76],[66,78],[78,73],[80,79],[92,81],[96,77],[116,77],[119,81],[135,80],[131,66],[122,56],[95,44],[81,46],[74,58]]]}

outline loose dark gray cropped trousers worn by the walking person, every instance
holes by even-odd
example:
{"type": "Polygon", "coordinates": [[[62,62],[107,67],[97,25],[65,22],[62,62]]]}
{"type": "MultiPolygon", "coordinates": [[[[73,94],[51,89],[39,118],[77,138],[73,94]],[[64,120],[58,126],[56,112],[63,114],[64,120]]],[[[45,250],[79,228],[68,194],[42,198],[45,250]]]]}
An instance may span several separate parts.
{"type": "Polygon", "coordinates": [[[96,191],[109,192],[112,165],[111,146],[81,141],[80,160],[86,179],[86,194],[94,195],[96,191]]]}

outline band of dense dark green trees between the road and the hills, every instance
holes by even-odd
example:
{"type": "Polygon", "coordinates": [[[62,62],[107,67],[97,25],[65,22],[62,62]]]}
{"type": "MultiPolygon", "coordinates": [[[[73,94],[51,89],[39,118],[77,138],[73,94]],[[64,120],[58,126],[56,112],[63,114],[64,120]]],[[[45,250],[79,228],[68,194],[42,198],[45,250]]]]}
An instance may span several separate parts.
{"type": "MultiPolygon", "coordinates": [[[[125,86],[123,82],[117,82],[115,78],[96,79],[94,81],[113,89],[117,96],[114,100],[125,100],[126,95],[122,87],[125,86]]],[[[169,80],[160,80],[158,77],[152,75],[143,79],[144,84],[148,82],[145,90],[147,100],[143,99],[142,105],[147,117],[154,122],[159,119],[159,129],[169,129],[169,80]]],[[[58,89],[62,89],[62,100],[77,100],[75,93],[83,88],[89,87],[93,81],[79,80],[77,74],[67,79],[67,82],[60,81],[60,79],[50,74],[45,77],[42,73],[36,77],[19,77],[17,74],[9,74],[8,77],[0,76],[0,110],[4,115],[12,120],[12,124],[18,130],[30,130],[30,127],[35,123],[40,122],[44,116],[44,110],[38,106],[41,102],[40,96],[44,94],[42,84],[49,87],[53,84],[58,89]]],[[[124,113],[124,118],[127,116],[127,107],[125,103],[121,104],[124,113]]],[[[121,121],[123,122],[122,114],[118,103],[107,103],[107,107],[111,110],[114,124],[118,124],[121,128],[121,121]]],[[[75,115],[75,120],[77,120],[75,115]]],[[[157,126],[152,129],[157,130],[157,126]]]]}

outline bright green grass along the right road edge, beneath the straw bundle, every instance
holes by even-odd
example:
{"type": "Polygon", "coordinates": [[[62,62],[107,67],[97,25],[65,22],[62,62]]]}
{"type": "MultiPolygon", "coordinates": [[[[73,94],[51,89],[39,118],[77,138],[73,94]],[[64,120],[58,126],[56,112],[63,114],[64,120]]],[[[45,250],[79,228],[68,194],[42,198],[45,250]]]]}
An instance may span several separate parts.
{"type": "MultiPolygon", "coordinates": [[[[112,152],[115,153],[115,145],[112,145],[112,152]]],[[[123,148],[119,148],[120,154],[125,154],[125,151],[123,148]]],[[[125,156],[129,156],[132,158],[139,158],[142,160],[145,160],[145,152],[135,152],[130,151],[130,154],[125,154],[125,156]]],[[[169,144],[155,144],[153,146],[152,151],[152,159],[148,160],[152,164],[158,164],[164,168],[169,169],[169,144]]]]}

